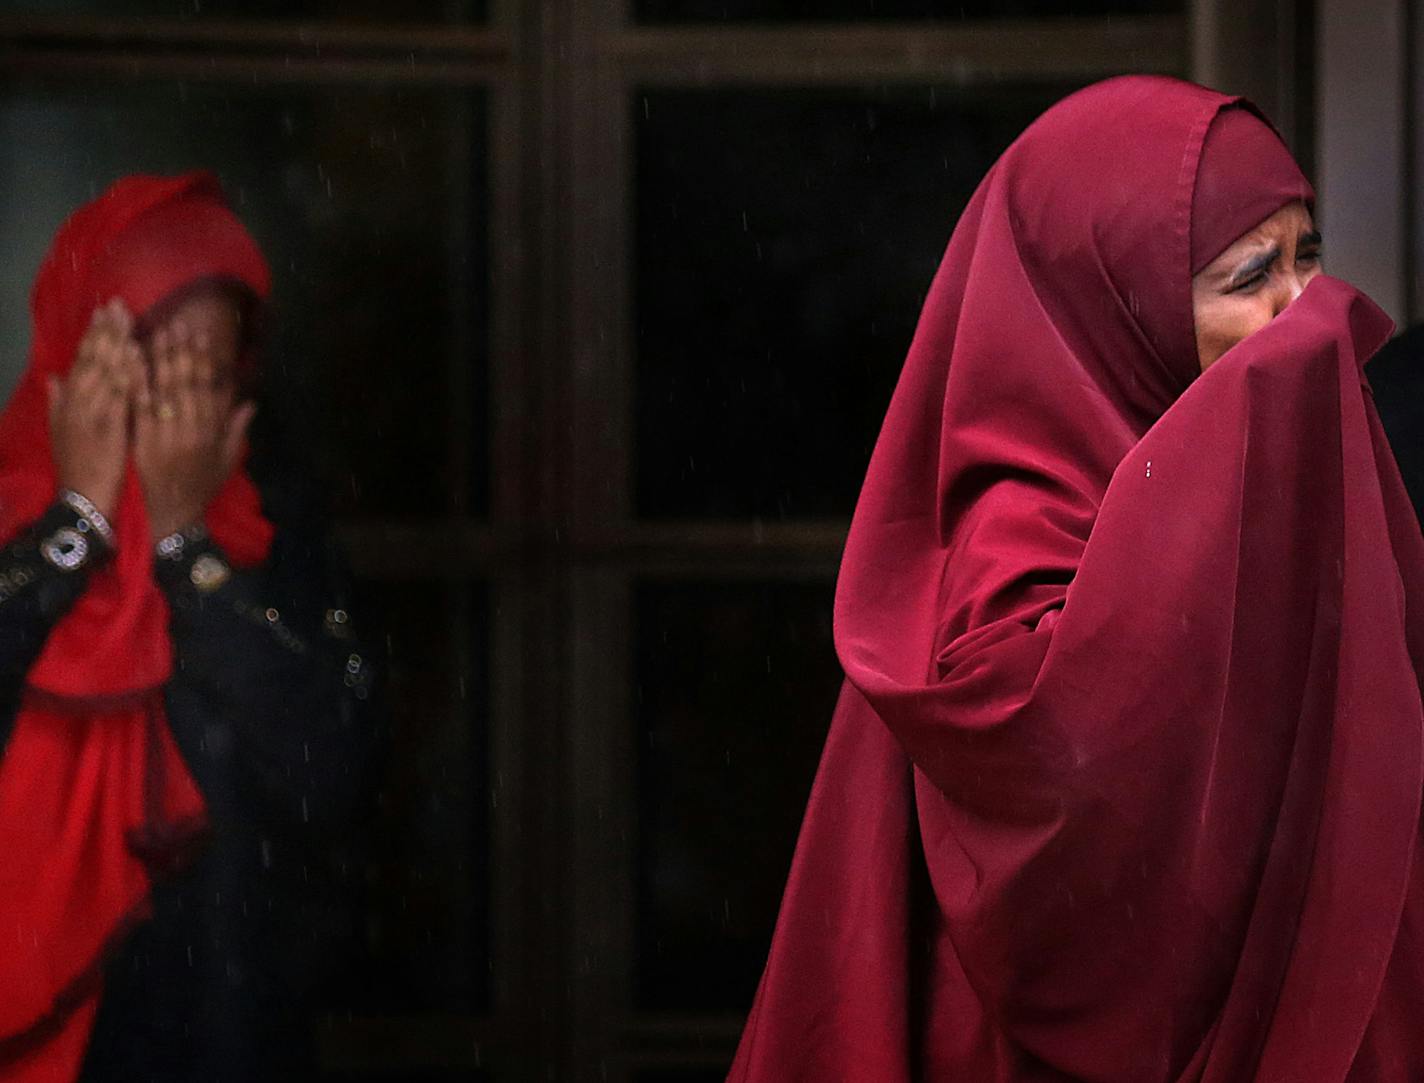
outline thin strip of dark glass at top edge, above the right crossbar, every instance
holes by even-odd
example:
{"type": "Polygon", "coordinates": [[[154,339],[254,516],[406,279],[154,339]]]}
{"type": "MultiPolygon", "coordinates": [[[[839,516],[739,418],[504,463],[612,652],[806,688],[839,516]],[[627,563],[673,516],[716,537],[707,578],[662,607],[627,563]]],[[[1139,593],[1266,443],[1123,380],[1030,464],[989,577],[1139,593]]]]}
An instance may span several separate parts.
{"type": "Polygon", "coordinates": [[[1052,19],[1182,11],[1183,0],[637,0],[646,23],[1052,19]]]}

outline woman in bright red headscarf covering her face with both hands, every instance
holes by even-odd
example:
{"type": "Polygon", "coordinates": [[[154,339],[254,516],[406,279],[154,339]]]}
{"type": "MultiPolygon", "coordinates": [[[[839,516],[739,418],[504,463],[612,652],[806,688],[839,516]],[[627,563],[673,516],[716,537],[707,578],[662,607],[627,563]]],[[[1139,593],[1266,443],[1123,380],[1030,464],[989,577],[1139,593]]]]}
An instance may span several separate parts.
{"type": "Polygon", "coordinates": [[[206,174],[120,181],[36,280],[0,416],[0,1079],[279,1077],[320,916],[292,885],[372,727],[322,544],[246,467],[268,292],[206,174]]]}

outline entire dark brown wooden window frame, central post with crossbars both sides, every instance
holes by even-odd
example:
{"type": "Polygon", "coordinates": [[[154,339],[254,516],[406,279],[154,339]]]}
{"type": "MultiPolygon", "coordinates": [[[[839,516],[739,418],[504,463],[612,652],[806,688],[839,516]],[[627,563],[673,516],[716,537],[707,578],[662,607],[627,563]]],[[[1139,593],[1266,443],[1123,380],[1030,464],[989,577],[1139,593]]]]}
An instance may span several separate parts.
{"type": "MultiPolygon", "coordinates": [[[[365,575],[490,583],[493,1005],[333,1020],[330,1067],[628,1080],[726,1062],[740,1016],[632,1008],[639,578],[822,579],[843,521],[645,522],[632,509],[632,154],[638,87],[994,85],[1183,74],[1185,17],[637,27],[628,0],[494,0],[484,27],[0,19],[4,77],[484,87],[487,521],[350,522],[365,575]]],[[[1196,46],[1200,53],[1200,43],[1196,46]]],[[[459,366],[451,389],[460,387],[459,366]]],[[[689,981],[695,981],[689,975],[689,981]]]]}

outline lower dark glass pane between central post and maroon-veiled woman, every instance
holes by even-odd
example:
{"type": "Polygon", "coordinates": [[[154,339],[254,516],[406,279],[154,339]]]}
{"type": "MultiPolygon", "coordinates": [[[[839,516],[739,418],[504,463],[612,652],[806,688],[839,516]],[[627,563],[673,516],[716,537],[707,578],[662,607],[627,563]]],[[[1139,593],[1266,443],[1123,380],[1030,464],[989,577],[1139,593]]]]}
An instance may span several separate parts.
{"type": "Polygon", "coordinates": [[[642,1008],[745,1012],[840,667],[830,583],[637,592],[642,1008]]]}

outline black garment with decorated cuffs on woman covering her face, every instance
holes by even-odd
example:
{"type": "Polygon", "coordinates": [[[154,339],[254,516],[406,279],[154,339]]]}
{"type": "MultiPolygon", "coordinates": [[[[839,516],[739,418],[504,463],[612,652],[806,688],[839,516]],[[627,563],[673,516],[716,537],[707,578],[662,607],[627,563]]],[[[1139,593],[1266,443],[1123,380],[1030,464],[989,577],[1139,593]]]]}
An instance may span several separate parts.
{"type": "MultiPolygon", "coordinates": [[[[73,518],[57,504],[0,555],[0,572],[31,574],[0,602],[0,736],[97,566],[41,558],[73,518]]],[[[333,546],[272,518],[258,568],[231,568],[211,541],[155,558],[172,611],[168,722],[211,837],[195,864],[154,885],[152,918],[107,961],[85,1083],[310,1074],[309,993],[353,936],[350,823],[377,734],[375,677],[333,546]]]]}

